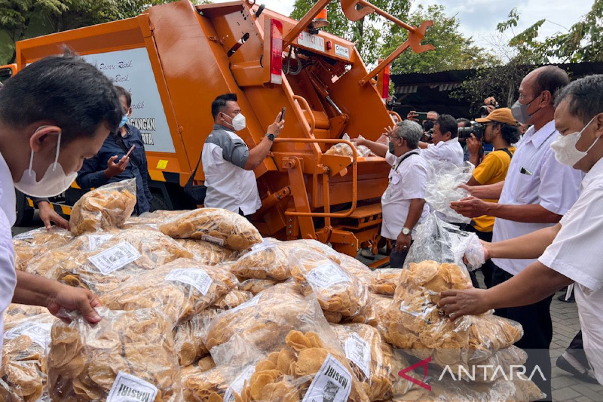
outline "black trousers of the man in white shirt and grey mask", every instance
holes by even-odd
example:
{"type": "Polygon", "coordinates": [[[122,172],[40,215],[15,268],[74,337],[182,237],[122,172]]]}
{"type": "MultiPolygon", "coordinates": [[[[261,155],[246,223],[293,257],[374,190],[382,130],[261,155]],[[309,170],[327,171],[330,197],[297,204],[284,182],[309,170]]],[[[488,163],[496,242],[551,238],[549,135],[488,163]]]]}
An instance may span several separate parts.
{"type": "MultiPolygon", "coordinates": [[[[492,275],[492,285],[503,283],[509,280],[513,275],[496,267],[492,275]]],[[[512,319],[522,324],[523,337],[516,342],[515,346],[522,348],[528,353],[526,361],[526,375],[534,371],[536,365],[542,371],[545,380],[540,373],[535,372],[532,381],[546,394],[544,400],[550,401],[551,391],[551,340],[553,338],[553,324],[551,321],[551,300],[553,295],[545,300],[522,307],[509,307],[507,309],[497,309],[494,314],[500,317],[512,319]]]]}

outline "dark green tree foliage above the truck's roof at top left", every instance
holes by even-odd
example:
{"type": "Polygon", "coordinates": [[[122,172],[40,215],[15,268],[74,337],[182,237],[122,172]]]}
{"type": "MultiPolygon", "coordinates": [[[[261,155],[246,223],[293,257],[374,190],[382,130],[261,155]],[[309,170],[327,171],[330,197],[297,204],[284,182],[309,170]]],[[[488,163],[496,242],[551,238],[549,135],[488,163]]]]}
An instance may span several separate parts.
{"type": "Polygon", "coordinates": [[[37,35],[101,24],[137,16],[151,5],[174,0],[0,0],[0,36],[8,49],[6,60],[14,61],[14,43],[37,35]]]}

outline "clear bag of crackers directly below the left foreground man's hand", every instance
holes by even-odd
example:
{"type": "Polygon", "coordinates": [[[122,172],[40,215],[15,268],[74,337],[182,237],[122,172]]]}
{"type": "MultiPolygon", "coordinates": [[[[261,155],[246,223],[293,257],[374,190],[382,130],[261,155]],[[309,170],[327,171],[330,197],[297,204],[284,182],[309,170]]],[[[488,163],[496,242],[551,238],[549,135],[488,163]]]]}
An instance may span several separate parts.
{"type": "Polygon", "coordinates": [[[52,401],[182,401],[180,366],[172,324],[154,309],[130,312],[97,309],[103,318],[90,325],[71,314],[51,330],[48,389],[52,401]]]}

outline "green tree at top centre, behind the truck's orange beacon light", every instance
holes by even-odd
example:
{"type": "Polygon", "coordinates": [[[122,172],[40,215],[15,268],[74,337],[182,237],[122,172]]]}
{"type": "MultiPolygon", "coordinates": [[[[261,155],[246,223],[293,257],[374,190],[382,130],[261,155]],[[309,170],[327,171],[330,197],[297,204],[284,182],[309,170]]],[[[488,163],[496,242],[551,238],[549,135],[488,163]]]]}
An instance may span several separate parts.
{"type": "MultiPolygon", "coordinates": [[[[295,0],[291,18],[301,19],[314,4],[313,0],[295,0]]],[[[406,20],[411,2],[410,0],[373,0],[371,4],[398,19],[406,20]]],[[[325,31],[350,40],[350,42],[357,41],[356,48],[366,64],[374,64],[377,61],[382,46],[381,39],[390,36],[398,28],[397,25],[374,13],[352,22],[346,18],[337,0],[333,0],[327,5],[327,13],[330,24],[325,31]]]]}

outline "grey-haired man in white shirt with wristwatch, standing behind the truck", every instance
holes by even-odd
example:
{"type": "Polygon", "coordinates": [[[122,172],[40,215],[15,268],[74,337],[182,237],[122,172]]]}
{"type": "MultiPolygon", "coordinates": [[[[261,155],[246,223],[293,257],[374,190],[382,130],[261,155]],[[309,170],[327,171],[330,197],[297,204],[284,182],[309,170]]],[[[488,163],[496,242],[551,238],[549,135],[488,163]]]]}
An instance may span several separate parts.
{"type": "Polygon", "coordinates": [[[396,157],[390,184],[381,197],[381,236],[392,240],[390,265],[402,268],[411,247],[415,225],[429,213],[425,203],[428,165],[418,152],[423,129],[414,121],[399,122],[390,133],[389,152],[396,157]]]}

